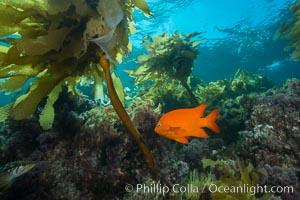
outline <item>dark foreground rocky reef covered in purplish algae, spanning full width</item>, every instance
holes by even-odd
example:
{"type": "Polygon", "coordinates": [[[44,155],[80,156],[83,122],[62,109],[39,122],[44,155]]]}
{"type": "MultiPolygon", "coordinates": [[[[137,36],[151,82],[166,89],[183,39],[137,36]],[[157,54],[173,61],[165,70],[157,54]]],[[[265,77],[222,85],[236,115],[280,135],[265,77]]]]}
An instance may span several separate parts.
{"type": "MultiPolygon", "coordinates": [[[[258,75],[253,76],[261,80],[258,75]]],[[[236,77],[242,80],[245,74],[236,77]]],[[[30,119],[10,119],[2,124],[0,164],[16,160],[40,164],[2,191],[0,198],[299,199],[300,81],[290,79],[281,88],[268,90],[257,83],[253,87],[246,84],[236,91],[248,88],[248,92],[236,95],[230,89],[233,82],[238,83],[235,79],[201,87],[206,91],[212,91],[209,87],[221,91],[216,85],[225,82],[226,89],[222,91],[226,93],[221,93],[220,101],[212,101],[220,110],[217,123],[222,133],[209,139],[191,139],[188,145],[179,145],[154,133],[162,114],[161,106],[152,100],[141,100],[143,97],[136,97],[130,103],[129,116],[155,157],[158,182],[150,179],[142,152],[112,106],[104,107],[63,90],[54,104],[58,114],[48,131],[39,125],[39,110],[30,119]],[[267,188],[292,186],[294,192],[221,194],[206,187],[198,193],[170,192],[163,196],[125,191],[126,184],[138,183],[170,187],[259,184],[267,188]]]]}

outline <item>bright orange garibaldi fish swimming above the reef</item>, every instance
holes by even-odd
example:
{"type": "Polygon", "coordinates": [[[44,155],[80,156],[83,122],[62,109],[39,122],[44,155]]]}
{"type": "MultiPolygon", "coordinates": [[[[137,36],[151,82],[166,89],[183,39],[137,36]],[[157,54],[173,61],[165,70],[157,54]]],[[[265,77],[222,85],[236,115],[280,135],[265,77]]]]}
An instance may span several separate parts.
{"type": "Polygon", "coordinates": [[[220,129],[216,124],[219,116],[217,109],[213,110],[206,117],[203,117],[207,104],[202,104],[195,108],[178,109],[164,114],[158,121],[155,132],[166,138],[187,144],[188,137],[208,138],[209,136],[203,129],[211,129],[219,133],[220,129]]]}

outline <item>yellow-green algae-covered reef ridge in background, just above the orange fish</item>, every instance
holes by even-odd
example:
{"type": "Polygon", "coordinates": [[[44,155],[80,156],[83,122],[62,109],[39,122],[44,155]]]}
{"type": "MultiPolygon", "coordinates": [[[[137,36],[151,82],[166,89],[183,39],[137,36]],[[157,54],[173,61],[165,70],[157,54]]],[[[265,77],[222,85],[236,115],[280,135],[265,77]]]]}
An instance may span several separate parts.
{"type": "MultiPolygon", "coordinates": [[[[188,92],[178,80],[156,79],[155,84],[147,83],[137,91],[137,97],[151,99],[155,105],[162,103],[164,112],[176,107],[192,107],[188,92]]],[[[239,69],[232,79],[224,79],[206,84],[195,76],[189,76],[188,85],[199,103],[209,103],[211,107],[232,107],[235,99],[243,95],[261,93],[274,86],[272,81],[262,75],[239,69]],[[227,103],[226,103],[227,101],[227,103]]],[[[237,102],[237,101],[235,101],[237,102]]]]}

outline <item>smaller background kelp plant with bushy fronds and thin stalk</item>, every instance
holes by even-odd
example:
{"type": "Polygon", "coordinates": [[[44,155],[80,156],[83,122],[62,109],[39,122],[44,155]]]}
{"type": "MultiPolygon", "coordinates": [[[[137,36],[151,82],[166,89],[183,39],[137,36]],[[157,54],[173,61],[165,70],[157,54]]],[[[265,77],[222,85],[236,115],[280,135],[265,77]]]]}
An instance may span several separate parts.
{"type": "Polygon", "coordinates": [[[187,79],[192,72],[194,59],[198,55],[196,49],[200,41],[192,41],[199,33],[167,35],[163,33],[154,38],[146,35],[143,46],[148,54],[137,57],[139,67],[127,72],[135,77],[135,83],[140,84],[149,80],[155,81],[156,86],[166,78],[179,80],[188,91],[193,104],[198,104],[192,93],[187,79]]]}

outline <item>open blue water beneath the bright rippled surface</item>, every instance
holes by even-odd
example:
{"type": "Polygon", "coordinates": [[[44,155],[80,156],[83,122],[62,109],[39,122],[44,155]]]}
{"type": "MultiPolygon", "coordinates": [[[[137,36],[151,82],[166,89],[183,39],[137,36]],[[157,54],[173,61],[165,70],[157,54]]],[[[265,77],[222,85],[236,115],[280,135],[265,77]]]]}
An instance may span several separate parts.
{"type": "MultiPolygon", "coordinates": [[[[292,13],[295,0],[148,0],[153,18],[135,13],[137,33],[131,36],[133,52],[128,60],[144,53],[145,34],[201,32],[199,55],[193,75],[206,82],[230,78],[239,68],[261,73],[281,84],[300,78],[300,63],[291,61],[284,47],[289,41],[274,40],[274,34],[292,13]]],[[[137,67],[129,62],[121,70],[125,86],[132,80],[123,69],[137,67]]]]}

